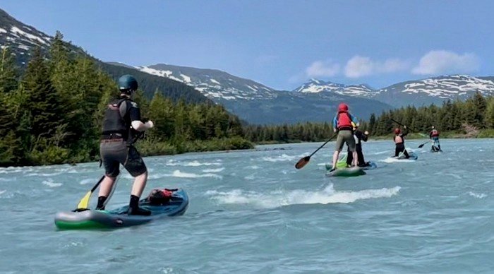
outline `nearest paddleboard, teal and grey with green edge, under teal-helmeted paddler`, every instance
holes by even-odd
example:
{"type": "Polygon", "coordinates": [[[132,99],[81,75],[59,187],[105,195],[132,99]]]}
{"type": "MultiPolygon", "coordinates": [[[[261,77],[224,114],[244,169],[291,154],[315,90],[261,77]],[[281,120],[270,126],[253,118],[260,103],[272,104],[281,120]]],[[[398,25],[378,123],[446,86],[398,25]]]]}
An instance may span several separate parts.
{"type": "Polygon", "coordinates": [[[119,228],[143,225],[167,216],[183,215],[188,207],[188,196],[183,189],[177,189],[170,201],[163,205],[151,204],[147,199],[139,206],[151,210],[151,215],[127,215],[128,205],[114,210],[85,210],[80,212],[59,212],[55,215],[56,227],[64,230],[85,230],[94,228],[119,228]]]}

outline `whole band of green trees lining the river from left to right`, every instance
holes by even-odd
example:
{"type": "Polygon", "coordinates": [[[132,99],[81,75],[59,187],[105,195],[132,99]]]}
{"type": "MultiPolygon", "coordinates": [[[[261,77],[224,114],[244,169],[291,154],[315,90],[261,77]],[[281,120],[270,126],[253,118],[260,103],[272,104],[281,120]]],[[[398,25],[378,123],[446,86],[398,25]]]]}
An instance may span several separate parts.
{"type": "MultiPolygon", "coordinates": [[[[56,32],[48,52],[34,49],[21,71],[8,47],[2,47],[0,167],[99,160],[104,110],[110,98],[119,95],[118,89],[115,79],[97,66],[95,59],[70,48],[63,35],[56,32]]],[[[190,89],[177,83],[173,88],[177,93],[190,89]]],[[[332,117],[326,123],[249,125],[210,100],[173,100],[158,89],[147,96],[138,90],[133,98],[143,117],[155,122],[155,127],[135,144],[143,156],[319,142],[333,135],[329,123],[332,117]]],[[[371,140],[392,140],[393,129],[399,127],[393,120],[409,126],[408,139],[426,141],[430,126],[440,131],[440,138],[491,138],[494,98],[476,93],[468,100],[448,100],[440,107],[392,109],[379,116],[370,115],[370,119],[361,121],[359,129],[369,131],[371,140]]]]}

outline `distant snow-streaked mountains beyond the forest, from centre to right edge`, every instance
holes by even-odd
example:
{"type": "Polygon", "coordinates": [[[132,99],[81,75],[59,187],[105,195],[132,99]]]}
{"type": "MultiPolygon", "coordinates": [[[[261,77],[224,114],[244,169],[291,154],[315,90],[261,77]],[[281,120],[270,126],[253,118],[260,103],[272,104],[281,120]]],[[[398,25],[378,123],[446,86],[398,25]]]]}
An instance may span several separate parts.
{"type": "Polygon", "coordinates": [[[284,91],[212,69],[167,64],[138,69],[191,85],[256,124],[328,121],[339,102],[347,102],[356,116],[368,119],[371,113],[380,114],[394,107],[441,105],[445,100],[465,100],[476,92],[494,95],[494,77],[438,76],[381,89],[311,79],[294,90],[284,91]]]}

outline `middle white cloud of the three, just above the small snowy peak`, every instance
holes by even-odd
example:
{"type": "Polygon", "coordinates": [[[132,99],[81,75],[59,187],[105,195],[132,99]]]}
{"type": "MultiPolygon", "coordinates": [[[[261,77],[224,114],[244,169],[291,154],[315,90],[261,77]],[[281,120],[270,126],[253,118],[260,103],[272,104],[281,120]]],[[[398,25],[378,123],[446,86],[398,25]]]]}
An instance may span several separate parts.
{"type": "Polygon", "coordinates": [[[392,73],[409,68],[409,64],[401,59],[387,59],[374,61],[369,57],[353,56],[345,66],[345,76],[348,78],[360,78],[380,73],[392,73]]]}

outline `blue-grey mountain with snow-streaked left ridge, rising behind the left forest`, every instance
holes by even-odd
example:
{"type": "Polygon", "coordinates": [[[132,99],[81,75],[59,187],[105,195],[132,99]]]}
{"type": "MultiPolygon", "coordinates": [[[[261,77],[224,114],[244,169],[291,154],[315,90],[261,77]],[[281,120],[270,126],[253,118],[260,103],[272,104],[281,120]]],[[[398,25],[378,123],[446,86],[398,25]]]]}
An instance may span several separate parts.
{"type": "MultiPolygon", "coordinates": [[[[200,90],[211,100],[224,105],[229,111],[253,124],[294,123],[297,121],[329,121],[339,102],[348,102],[354,114],[368,119],[373,112],[391,109],[376,100],[351,97],[344,93],[313,93],[275,90],[224,71],[185,66],[157,64],[140,66],[140,71],[171,78],[200,90]]],[[[317,83],[316,80],[314,80],[317,83]]],[[[323,83],[323,82],[320,82],[323,83]]],[[[342,85],[342,88],[345,88],[342,85]]],[[[355,94],[357,88],[348,86],[355,94]]]]}

